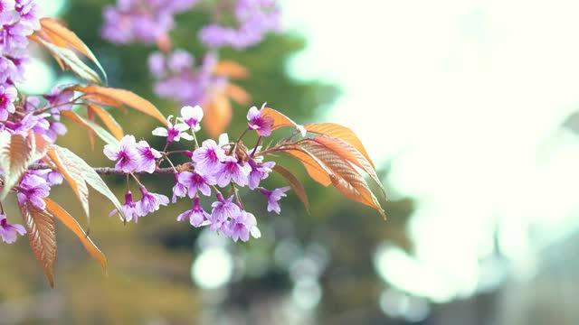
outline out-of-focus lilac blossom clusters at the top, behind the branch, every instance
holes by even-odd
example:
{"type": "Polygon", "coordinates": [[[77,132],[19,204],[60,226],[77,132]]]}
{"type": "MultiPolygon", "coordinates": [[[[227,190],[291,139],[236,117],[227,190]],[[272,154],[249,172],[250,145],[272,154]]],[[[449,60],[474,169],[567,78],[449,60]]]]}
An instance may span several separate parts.
{"type": "Polygon", "coordinates": [[[215,94],[223,93],[229,81],[214,74],[217,50],[225,46],[245,49],[261,42],[267,32],[279,32],[280,13],[276,0],[118,0],[117,5],[104,8],[100,34],[117,44],[157,43],[164,53],[154,52],[148,59],[155,94],[182,106],[204,106],[215,94]],[[198,31],[200,41],[211,51],[196,55],[203,58],[197,62],[189,52],[171,49],[168,41],[175,14],[192,8],[209,11],[212,17],[212,23],[198,31]]]}

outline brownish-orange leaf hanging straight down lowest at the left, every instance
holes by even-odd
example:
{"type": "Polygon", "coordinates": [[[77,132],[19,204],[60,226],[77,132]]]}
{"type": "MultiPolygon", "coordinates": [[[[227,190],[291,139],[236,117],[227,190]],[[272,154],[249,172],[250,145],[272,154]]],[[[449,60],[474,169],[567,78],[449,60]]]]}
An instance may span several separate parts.
{"type": "Polygon", "coordinates": [[[56,231],[54,217],[46,210],[34,207],[29,201],[20,205],[30,247],[43,267],[51,288],[54,287],[53,268],[56,261],[56,231]]]}

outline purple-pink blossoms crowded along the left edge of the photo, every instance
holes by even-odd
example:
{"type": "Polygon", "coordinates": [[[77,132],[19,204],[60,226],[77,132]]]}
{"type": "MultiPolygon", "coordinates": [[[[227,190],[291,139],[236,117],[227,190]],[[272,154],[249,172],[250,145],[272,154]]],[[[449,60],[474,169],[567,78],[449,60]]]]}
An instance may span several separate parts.
{"type": "MultiPolygon", "coordinates": [[[[60,112],[71,109],[74,92],[59,87],[43,96],[24,96],[17,83],[24,82],[25,64],[29,61],[28,36],[40,28],[37,6],[33,0],[0,0],[0,137],[27,136],[30,131],[53,143],[66,133],[60,112]]],[[[4,175],[4,171],[0,171],[4,175]]],[[[14,190],[20,204],[29,202],[44,209],[43,198],[51,186],[62,183],[62,175],[51,169],[29,170],[14,190]]],[[[13,243],[16,234],[24,235],[21,225],[9,224],[0,206],[0,238],[13,243]]]]}

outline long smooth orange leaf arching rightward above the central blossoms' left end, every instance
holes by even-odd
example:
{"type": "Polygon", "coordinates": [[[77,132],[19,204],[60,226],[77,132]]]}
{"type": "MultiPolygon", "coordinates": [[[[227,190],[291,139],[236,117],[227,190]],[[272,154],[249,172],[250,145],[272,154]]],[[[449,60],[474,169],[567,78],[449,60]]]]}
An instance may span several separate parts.
{"type": "MultiPolygon", "coordinates": [[[[151,102],[145,98],[141,98],[137,94],[119,88],[106,88],[99,86],[74,86],[70,89],[81,91],[86,95],[83,99],[90,100],[98,105],[119,107],[119,103],[127,105],[128,107],[133,107],[138,111],[157,118],[163,125],[167,125],[166,118],[159,112],[157,107],[155,107],[151,102]],[[109,104],[107,104],[109,103],[109,104]]],[[[122,106],[120,106],[122,107],[122,106]]]]}

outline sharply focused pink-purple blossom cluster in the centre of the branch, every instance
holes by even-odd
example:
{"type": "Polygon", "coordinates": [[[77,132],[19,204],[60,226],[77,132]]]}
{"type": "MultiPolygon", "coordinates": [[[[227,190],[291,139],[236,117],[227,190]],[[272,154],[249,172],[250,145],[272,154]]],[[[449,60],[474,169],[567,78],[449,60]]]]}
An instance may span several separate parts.
{"type": "MultiPolygon", "coordinates": [[[[243,133],[255,130],[261,137],[271,135],[271,119],[261,116],[261,109],[250,108],[248,127],[243,133]]],[[[280,213],[280,199],[285,197],[289,187],[266,190],[260,186],[272,171],[275,163],[264,162],[260,154],[259,141],[252,149],[245,147],[242,136],[230,142],[227,136],[220,136],[219,143],[213,139],[204,140],[199,145],[196,132],[201,129],[203,109],[196,107],[181,108],[181,116],[169,116],[167,127],[157,127],[152,134],[166,137],[166,145],[162,151],[151,148],[146,141],[136,141],[133,135],[125,135],[119,144],[107,144],[105,155],[116,162],[115,169],[133,176],[138,182],[140,200],[135,201],[133,194],[127,190],[123,221],[138,222],[138,218],[157,211],[160,206],[169,204],[166,195],[151,193],[138,181],[136,173],[155,173],[159,171],[160,163],[166,161],[174,170],[175,185],[172,193],[172,203],[180,198],[191,200],[191,209],[181,213],[177,220],[188,220],[194,227],[208,226],[234,241],[248,241],[250,237],[260,237],[255,216],[243,209],[239,189],[247,187],[255,190],[267,199],[267,210],[280,213]],[[193,151],[167,151],[170,144],[181,140],[193,141],[193,151]],[[173,154],[184,154],[188,163],[175,166],[170,159],[173,154]],[[223,195],[224,192],[229,194],[223,195]],[[206,211],[201,205],[201,197],[214,198],[211,210],[206,211]]],[[[110,215],[118,213],[113,210],[110,215]]]]}

